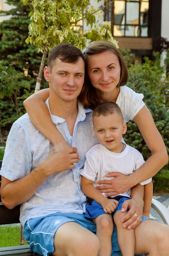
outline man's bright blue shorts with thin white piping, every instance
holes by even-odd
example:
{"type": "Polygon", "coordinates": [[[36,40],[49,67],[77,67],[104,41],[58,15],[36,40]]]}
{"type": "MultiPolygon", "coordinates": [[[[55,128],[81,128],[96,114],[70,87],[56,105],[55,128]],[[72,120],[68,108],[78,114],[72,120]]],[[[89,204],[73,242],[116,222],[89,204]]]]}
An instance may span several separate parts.
{"type": "MultiPolygon", "coordinates": [[[[145,217],[144,219],[148,219],[145,217]]],[[[30,249],[40,255],[48,256],[54,251],[54,236],[57,229],[66,222],[77,222],[82,227],[96,233],[96,225],[77,213],[54,213],[44,217],[27,220],[24,225],[24,238],[30,249]]],[[[112,235],[113,251],[111,256],[122,256],[117,243],[117,231],[114,226],[112,235]]]]}

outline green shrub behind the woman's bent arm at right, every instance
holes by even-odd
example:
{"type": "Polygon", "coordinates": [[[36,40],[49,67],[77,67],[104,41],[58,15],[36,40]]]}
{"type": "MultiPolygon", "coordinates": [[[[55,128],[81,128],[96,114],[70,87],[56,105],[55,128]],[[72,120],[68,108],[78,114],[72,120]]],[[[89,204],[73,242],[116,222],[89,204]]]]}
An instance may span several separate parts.
{"type": "MultiPolygon", "coordinates": [[[[163,70],[155,66],[155,63],[146,59],[146,62],[142,65],[135,63],[135,65],[129,67],[127,85],[134,91],[144,94],[143,100],[154,118],[169,154],[169,112],[167,105],[164,104],[166,103],[164,100],[166,91],[169,90],[169,81],[167,81],[168,78],[162,79],[163,70]]],[[[129,121],[127,123],[127,133],[124,139],[127,144],[137,148],[143,154],[145,160],[150,157],[151,152],[134,122],[129,121]]],[[[165,165],[163,169],[169,170],[169,164],[165,165]]]]}

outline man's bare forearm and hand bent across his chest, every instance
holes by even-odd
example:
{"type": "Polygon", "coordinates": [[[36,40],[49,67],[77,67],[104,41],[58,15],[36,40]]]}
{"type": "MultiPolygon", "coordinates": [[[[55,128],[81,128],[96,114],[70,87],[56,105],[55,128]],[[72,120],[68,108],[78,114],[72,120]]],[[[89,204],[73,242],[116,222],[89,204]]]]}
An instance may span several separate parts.
{"type": "Polygon", "coordinates": [[[77,148],[67,148],[59,152],[52,150],[47,159],[25,177],[11,181],[2,176],[0,193],[3,204],[13,209],[29,200],[50,175],[74,168],[74,164],[79,161],[76,152],[77,148]]]}

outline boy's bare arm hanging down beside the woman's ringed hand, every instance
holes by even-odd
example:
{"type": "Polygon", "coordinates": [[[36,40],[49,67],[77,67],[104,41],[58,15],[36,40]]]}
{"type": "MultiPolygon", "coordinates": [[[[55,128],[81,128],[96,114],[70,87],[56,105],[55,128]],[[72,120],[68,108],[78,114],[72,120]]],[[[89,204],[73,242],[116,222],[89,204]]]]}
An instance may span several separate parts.
{"type": "Polygon", "coordinates": [[[144,207],[143,215],[149,217],[151,201],[153,197],[153,182],[144,185],[144,207]]]}

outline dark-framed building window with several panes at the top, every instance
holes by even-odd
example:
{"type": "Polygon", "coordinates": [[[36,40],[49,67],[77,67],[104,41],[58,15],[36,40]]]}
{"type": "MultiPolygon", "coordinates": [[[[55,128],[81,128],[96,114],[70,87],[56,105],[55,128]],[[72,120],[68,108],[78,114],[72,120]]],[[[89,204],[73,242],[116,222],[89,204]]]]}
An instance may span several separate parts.
{"type": "Polygon", "coordinates": [[[113,36],[149,37],[149,0],[114,0],[105,20],[111,20],[113,36]]]}

